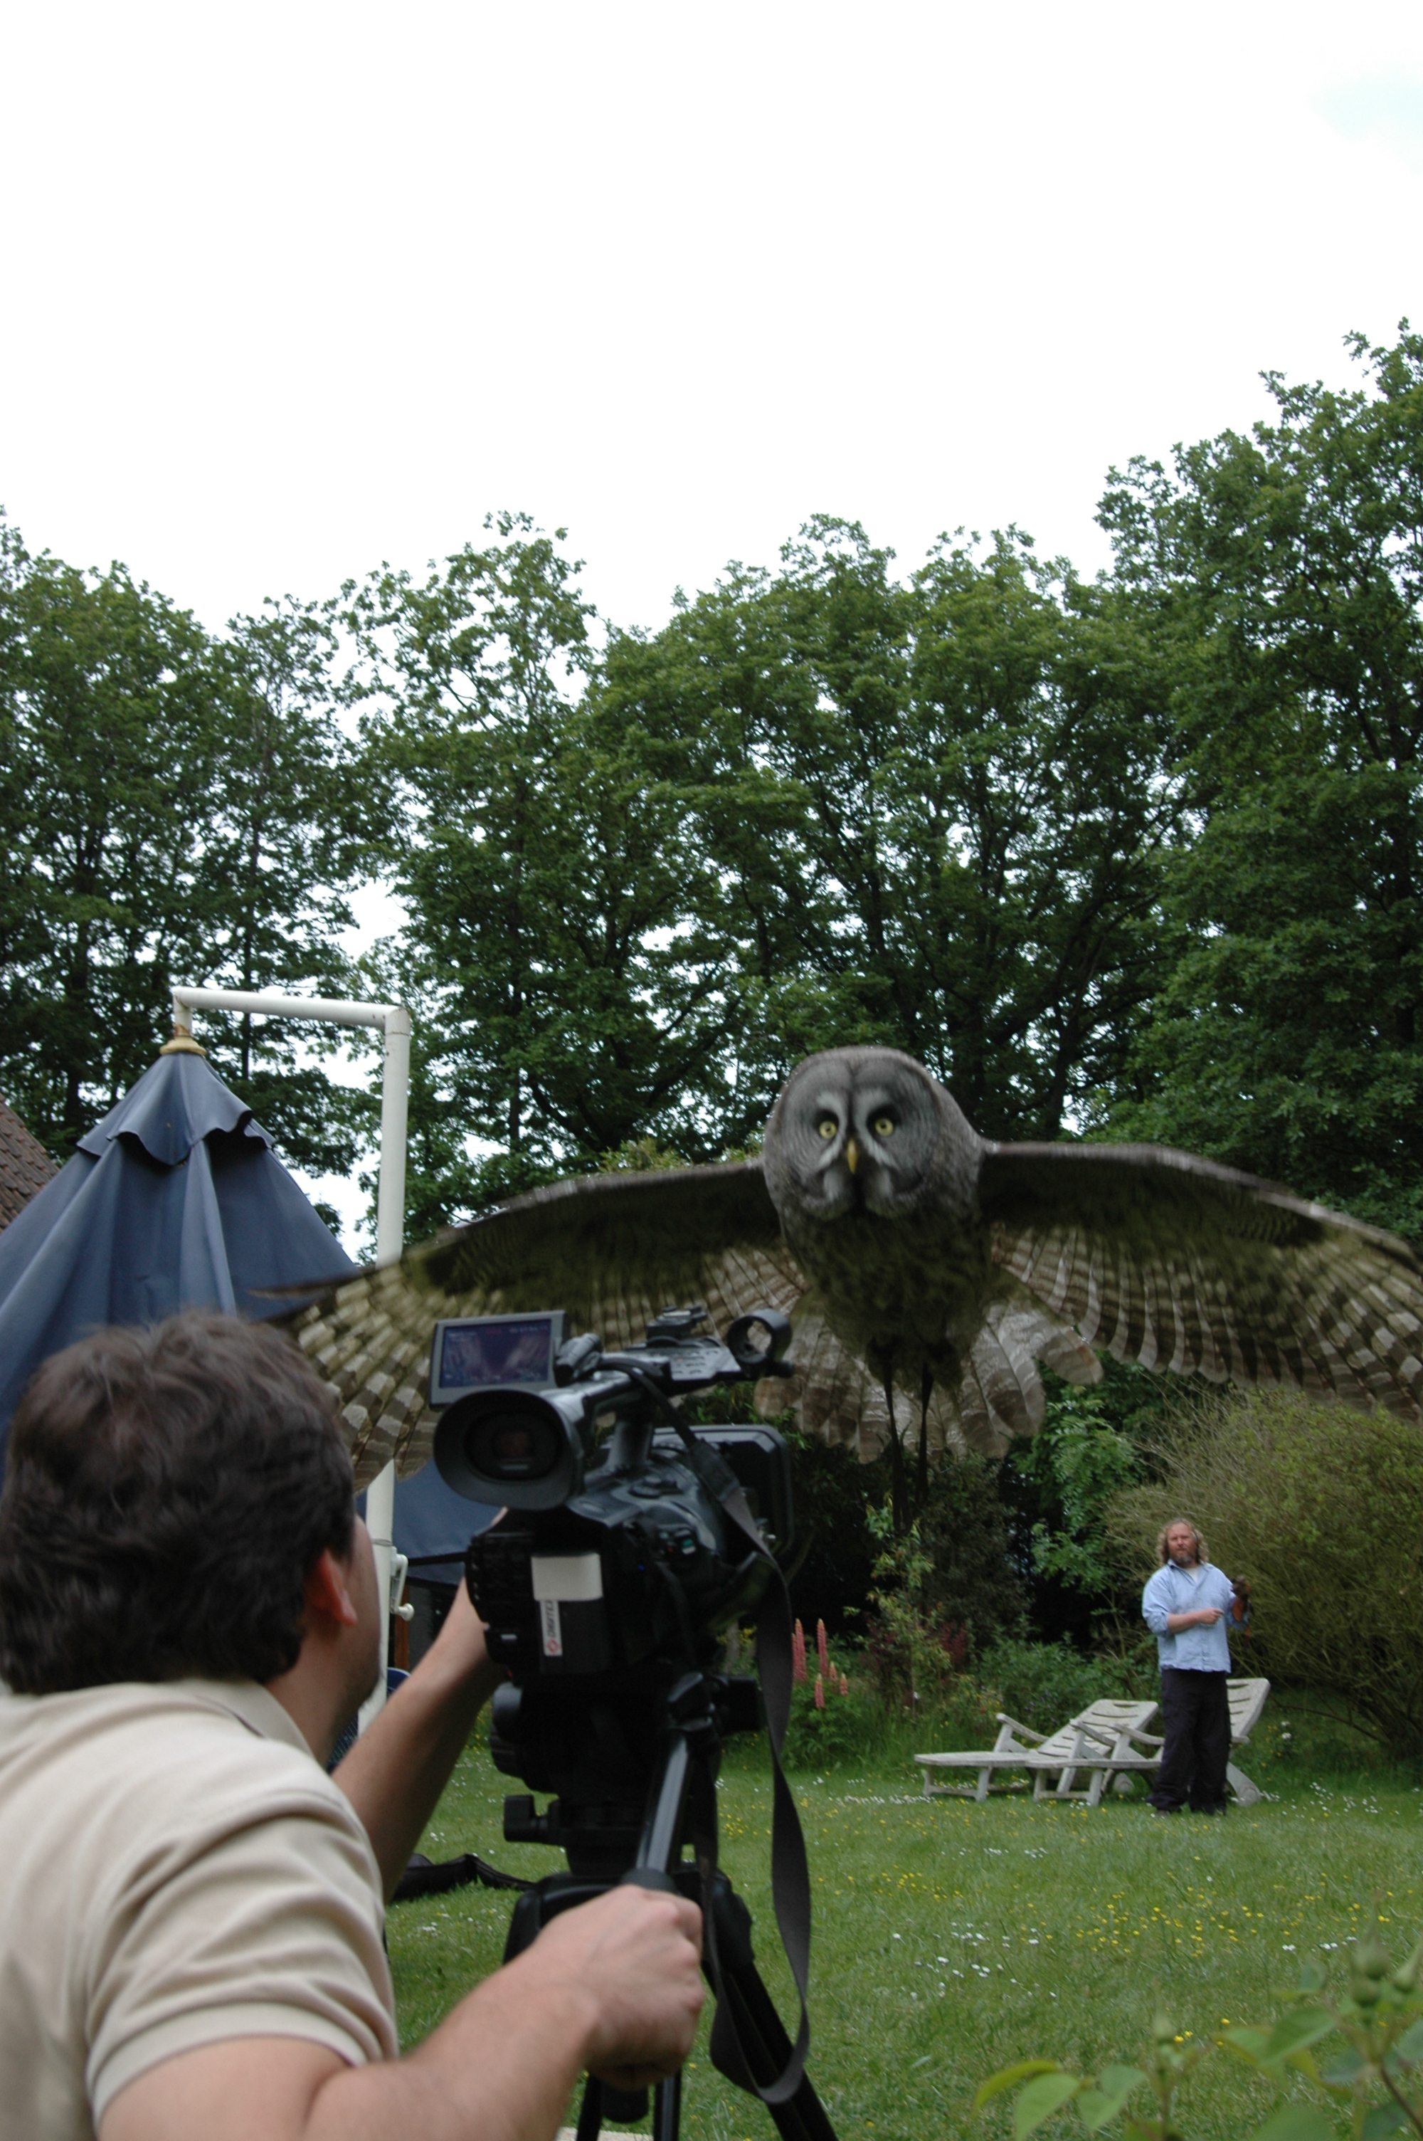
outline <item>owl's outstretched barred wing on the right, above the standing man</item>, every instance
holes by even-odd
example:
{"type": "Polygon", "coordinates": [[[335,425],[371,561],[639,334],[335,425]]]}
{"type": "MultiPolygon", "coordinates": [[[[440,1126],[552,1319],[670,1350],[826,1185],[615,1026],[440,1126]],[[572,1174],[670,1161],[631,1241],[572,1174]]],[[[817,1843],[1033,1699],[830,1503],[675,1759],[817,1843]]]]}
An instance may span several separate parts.
{"type": "Polygon", "coordinates": [[[1423,1417],[1423,1267],[1391,1233],[1162,1145],[989,1145],[993,1257],[1145,1368],[1423,1417]]]}

